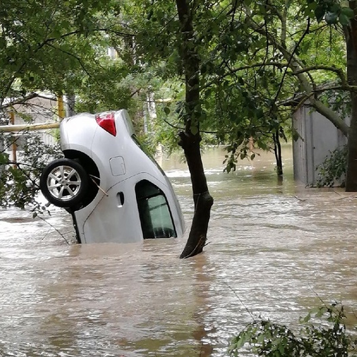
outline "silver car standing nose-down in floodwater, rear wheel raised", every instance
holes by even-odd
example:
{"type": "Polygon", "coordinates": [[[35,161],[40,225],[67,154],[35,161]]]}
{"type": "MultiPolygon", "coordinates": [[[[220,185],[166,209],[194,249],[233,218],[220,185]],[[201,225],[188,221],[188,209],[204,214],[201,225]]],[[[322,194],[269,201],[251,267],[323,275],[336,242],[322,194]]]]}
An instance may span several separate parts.
{"type": "Polygon", "coordinates": [[[65,158],[45,167],[40,188],[72,214],[79,243],[182,235],[171,183],[141,149],[126,110],[65,118],[60,137],[65,158]]]}

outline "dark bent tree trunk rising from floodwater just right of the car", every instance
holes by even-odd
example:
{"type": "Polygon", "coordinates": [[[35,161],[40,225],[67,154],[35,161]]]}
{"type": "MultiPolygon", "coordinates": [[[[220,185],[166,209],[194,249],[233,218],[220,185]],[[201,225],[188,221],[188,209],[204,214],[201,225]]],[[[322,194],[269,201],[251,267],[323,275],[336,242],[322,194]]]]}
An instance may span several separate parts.
{"type": "Polygon", "coordinates": [[[196,39],[193,34],[193,9],[190,9],[187,0],[176,0],[176,6],[181,25],[181,37],[178,45],[186,84],[185,114],[183,116],[185,131],[179,134],[181,139],[179,145],[183,148],[190,170],[195,206],[190,234],[180,256],[180,258],[188,258],[201,253],[206,244],[213,198],[208,192],[200,151],[200,67],[196,39]]]}

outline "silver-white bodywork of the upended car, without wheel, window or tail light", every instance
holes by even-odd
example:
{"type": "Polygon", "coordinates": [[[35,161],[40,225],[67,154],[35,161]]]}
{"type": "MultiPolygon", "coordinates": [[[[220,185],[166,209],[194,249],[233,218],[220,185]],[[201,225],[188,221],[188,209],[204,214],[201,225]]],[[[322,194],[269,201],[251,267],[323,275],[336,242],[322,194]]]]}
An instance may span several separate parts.
{"type": "Polygon", "coordinates": [[[182,236],[183,217],[169,179],[132,139],[134,130],[127,111],[116,111],[114,117],[116,136],[102,129],[92,114],[65,118],[60,125],[62,151],[83,152],[95,162],[100,174],[100,189],[94,200],[74,211],[80,242],[143,239],[135,194],[135,185],[141,180],[164,192],[176,234],[182,236]]]}

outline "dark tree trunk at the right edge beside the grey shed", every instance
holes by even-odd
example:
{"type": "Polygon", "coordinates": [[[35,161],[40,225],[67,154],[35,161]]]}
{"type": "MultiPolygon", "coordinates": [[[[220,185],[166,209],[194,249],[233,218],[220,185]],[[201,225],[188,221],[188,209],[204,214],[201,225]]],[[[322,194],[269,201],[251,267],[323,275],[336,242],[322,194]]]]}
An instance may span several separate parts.
{"type": "MultiPolygon", "coordinates": [[[[356,1],[350,1],[355,10],[356,1]]],[[[351,26],[345,28],[347,45],[348,84],[357,85],[357,20],[351,19],[351,26]]],[[[357,94],[351,92],[351,124],[348,132],[348,157],[346,173],[346,191],[357,191],[357,94]]]]}

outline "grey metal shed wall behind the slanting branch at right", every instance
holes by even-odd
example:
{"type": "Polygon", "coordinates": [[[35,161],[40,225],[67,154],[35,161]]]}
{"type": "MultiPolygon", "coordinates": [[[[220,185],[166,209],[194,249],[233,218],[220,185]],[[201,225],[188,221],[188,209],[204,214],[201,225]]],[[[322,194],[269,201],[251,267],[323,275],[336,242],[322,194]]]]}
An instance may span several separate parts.
{"type": "Polygon", "coordinates": [[[316,167],[331,151],[347,144],[347,138],[324,116],[306,106],[295,112],[293,127],[301,136],[293,141],[294,178],[316,185],[316,167]]]}

